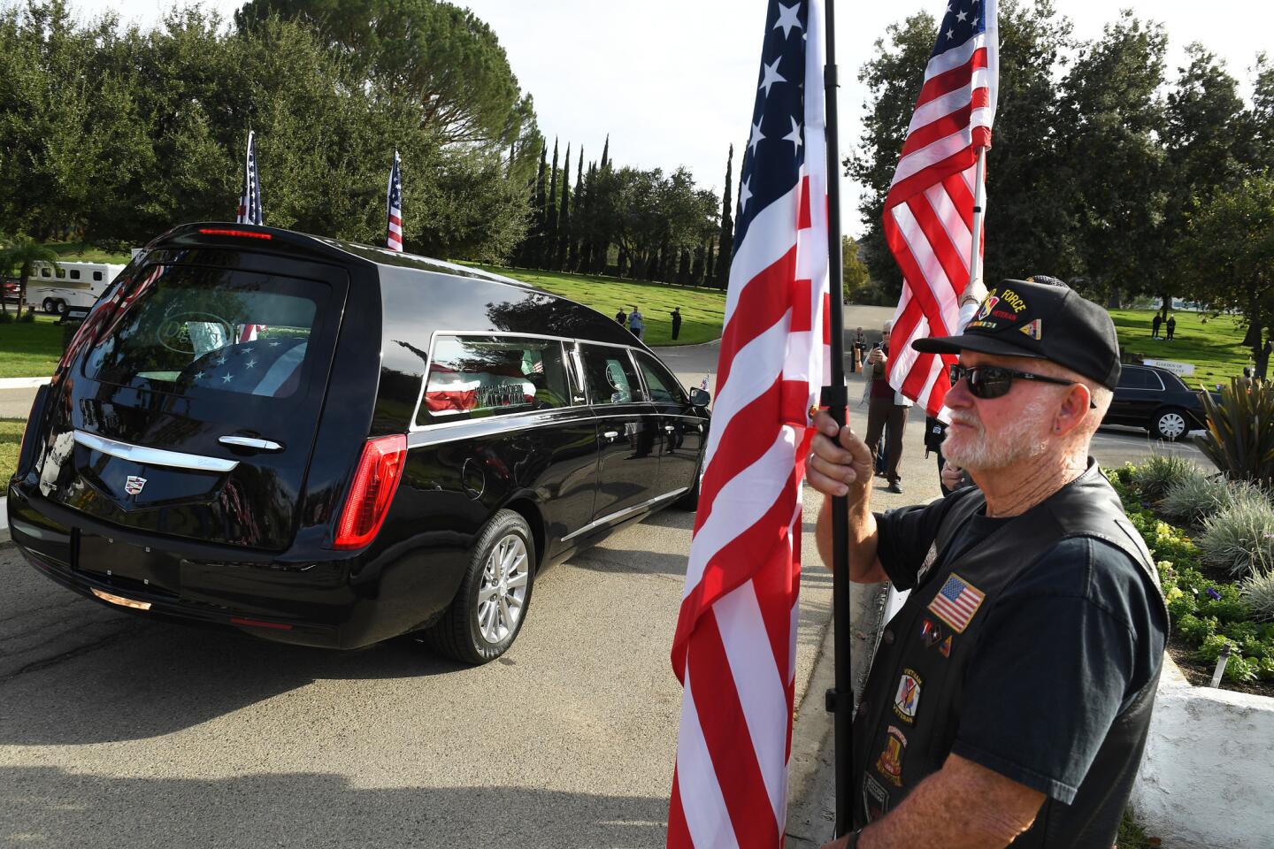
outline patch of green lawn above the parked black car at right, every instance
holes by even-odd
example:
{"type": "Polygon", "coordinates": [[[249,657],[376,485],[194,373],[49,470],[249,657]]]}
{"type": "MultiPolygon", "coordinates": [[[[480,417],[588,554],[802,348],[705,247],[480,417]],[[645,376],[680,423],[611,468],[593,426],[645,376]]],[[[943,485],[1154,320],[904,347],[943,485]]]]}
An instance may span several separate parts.
{"type": "MultiPolygon", "coordinates": [[[[1184,378],[1195,388],[1203,383],[1209,389],[1217,383],[1228,386],[1229,378],[1243,373],[1251,354],[1245,349],[1245,327],[1235,316],[1208,318],[1208,313],[1177,312],[1177,327],[1173,341],[1150,339],[1150,318],[1153,309],[1112,309],[1111,318],[1119,331],[1119,345],[1125,353],[1135,353],[1150,359],[1191,363],[1195,367],[1192,377],[1184,378]],[[1203,319],[1208,318],[1204,323],[1203,319]]],[[[1167,330],[1159,327],[1159,335],[1167,330]]]]}

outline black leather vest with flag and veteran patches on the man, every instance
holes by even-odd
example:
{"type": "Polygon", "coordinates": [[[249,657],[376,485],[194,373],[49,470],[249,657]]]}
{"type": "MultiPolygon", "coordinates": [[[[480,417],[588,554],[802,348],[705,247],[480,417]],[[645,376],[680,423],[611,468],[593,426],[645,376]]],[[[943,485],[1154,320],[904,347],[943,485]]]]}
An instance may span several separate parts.
{"type": "MultiPolygon", "coordinates": [[[[1140,535],[1124,514],[1119,496],[1097,463],[1049,499],[952,561],[947,547],[957,531],[982,509],[981,490],[961,490],[947,499],[938,538],[921,566],[916,587],[882,631],[862,704],[854,723],[854,821],[861,827],[897,807],[908,790],[938,771],[950,754],[959,726],[966,668],[978,636],[1003,591],[1057,542],[1096,537],[1125,551],[1154,587],[1163,605],[1158,573],[1140,535]]],[[[1163,608],[1167,622],[1167,608],[1163,608]]],[[[1089,822],[1106,822],[1103,803],[1119,804],[1131,790],[1154,704],[1158,672],[1121,713],[1103,741],[1079,796],[1070,806],[1096,808],[1089,822]],[[1130,766],[1129,766],[1130,764],[1130,766]],[[1089,780],[1093,779],[1093,780],[1089,780]]],[[[1065,741],[1059,741],[1060,746],[1065,741]]],[[[1068,822],[1064,834],[1050,826],[1050,804],[1018,846],[1083,846],[1083,829],[1068,822]]],[[[1119,821],[1120,811],[1113,812],[1119,821]]],[[[1054,817],[1057,820],[1057,817],[1054,817]]],[[[1073,820],[1073,817],[1071,817],[1073,820]]],[[[1110,835],[1092,835],[1091,845],[1111,845],[1110,835]]]]}

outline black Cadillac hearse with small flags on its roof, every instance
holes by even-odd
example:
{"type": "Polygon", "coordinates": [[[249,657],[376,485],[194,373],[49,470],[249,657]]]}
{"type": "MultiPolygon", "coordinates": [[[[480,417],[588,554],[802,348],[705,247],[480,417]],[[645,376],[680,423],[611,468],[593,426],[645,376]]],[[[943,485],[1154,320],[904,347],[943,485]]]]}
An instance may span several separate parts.
{"type": "Polygon", "coordinates": [[[536,570],[693,509],[707,393],[526,284],[264,227],[152,242],[42,387],[9,526],[54,580],[307,645],[517,636],[536,570]]]}

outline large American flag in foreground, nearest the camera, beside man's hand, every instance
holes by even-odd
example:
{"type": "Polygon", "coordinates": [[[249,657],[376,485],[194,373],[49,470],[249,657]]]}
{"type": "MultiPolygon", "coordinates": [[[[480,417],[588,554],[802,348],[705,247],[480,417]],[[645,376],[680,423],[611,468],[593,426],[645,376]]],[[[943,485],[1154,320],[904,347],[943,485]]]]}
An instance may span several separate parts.
{"type": "Polygon", "coordinates": [[[771,0],[685,591],[668,845],[782,843],[809,410],[828,311],[823,0],[771,0]]]}

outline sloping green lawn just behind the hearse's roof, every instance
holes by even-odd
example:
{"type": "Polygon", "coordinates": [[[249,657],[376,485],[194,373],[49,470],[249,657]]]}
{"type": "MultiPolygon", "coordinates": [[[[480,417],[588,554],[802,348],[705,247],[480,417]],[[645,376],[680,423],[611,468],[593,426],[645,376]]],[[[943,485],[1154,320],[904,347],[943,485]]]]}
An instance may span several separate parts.
{"type": "Polygon", "coordinates": [[[637,283],[615,277],[592,277],[582,274],[558,274],[531,269],[502,269],[480,266],[515,280],[577,300],[604,316],[614,316],[620,307],[624,312],[633,304],[641,307],[646,318],[647,345],[697,345],[721,336],[725,321],[725,293],[720,289],[668,286],[660,283],[637,283]],[[682,309],[682,333],[673,341],[673,307],[682,309]]]}

